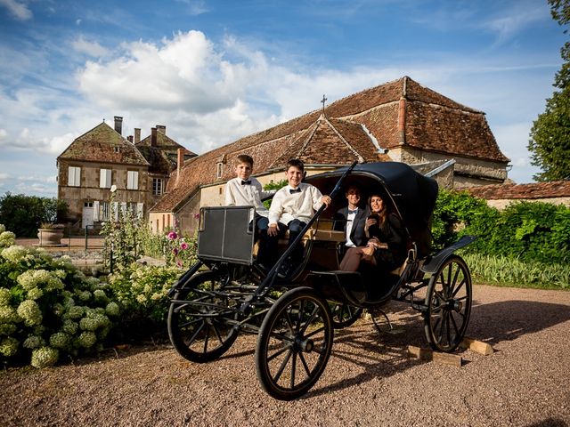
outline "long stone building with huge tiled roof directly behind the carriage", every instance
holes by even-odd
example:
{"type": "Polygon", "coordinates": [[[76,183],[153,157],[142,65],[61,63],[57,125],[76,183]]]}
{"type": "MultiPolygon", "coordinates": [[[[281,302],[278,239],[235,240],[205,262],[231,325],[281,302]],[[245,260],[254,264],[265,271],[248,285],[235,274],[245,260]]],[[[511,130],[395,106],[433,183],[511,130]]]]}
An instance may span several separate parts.
{"type": "Polygon", "coordinates": [[[509,164],[485,113],[402,77],[185,161],[151,208],[152,229],[177,223],[195,230],[200,206],[223,204],[242,153],[254,158],[262,184],[283,179],[291,157],[303,160],[308,174],[355,160],[400,161],[456,189],[502,183],[509,164]]]}

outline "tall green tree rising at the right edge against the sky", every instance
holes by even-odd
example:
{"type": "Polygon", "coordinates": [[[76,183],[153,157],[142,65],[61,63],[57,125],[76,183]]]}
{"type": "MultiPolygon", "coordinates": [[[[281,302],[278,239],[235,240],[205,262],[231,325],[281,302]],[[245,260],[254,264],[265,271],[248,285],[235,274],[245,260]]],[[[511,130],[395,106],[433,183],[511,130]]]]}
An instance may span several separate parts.
{"type": "MultiPolygon", "coordinates": [[[[549,0],[549,4],[552,18],[558,24],[570,23],[570,0],[549,0]]],[[[567,32],[566,28],[564,33],[567,32]]],[[[536,181],[570,179],[570,42],[564,44],[560,54],[564,63],[553,84],[558,90],[546,101],[545,111],[533,123],[528,143],[531,164],[542,169],[533,176],[536,181]]]]}

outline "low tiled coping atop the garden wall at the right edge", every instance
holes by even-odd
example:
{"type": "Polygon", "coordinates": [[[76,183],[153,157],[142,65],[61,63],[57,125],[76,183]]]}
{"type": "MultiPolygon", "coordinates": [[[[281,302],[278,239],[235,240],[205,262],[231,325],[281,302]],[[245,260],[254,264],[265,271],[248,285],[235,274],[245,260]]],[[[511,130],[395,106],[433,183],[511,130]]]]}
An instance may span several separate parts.
{"type": "Polygon", "coordinates": [[[570,197],[570,181],[485,185],[467,190],[473,196],[485,198],[485,200],[570,197]]]}

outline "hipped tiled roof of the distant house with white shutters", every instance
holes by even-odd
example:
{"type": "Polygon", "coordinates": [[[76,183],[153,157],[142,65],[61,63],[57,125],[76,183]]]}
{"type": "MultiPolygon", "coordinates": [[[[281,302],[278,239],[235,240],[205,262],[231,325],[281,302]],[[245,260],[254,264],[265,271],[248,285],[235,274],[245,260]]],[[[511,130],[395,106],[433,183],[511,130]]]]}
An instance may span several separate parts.
{"type": "Polygon", "coordinates": [[[58,159],[60,158],[123,165],[149,165],[133,144],[104,122],[77,137],[61,153],[58,159]]]}

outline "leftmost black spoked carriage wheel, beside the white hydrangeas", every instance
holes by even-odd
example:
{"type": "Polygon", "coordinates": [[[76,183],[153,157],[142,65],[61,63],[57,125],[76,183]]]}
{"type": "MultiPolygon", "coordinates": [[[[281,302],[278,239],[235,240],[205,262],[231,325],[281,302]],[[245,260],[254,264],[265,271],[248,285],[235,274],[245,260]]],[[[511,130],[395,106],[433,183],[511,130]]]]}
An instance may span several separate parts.
{"type": "Polygon", "coordinates": [[[230,304],[229,298],[212,294],[224,286],[224,277],[215,271],[205,271],[191,278],[174,299],[188,302],[204,302],[195,305],[171,302],[168,310],[168,335],[175,350],[184,359],[204,363],[219,358],[232,347],[239,331],[226,320],[236,318],[232,312],[223,313],[230,304]],[[206,304],[216,304],[216,307],[206,304]]]}

